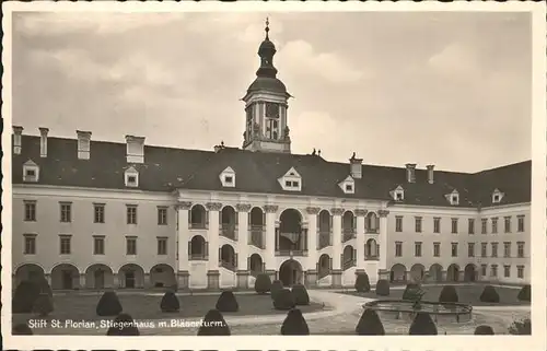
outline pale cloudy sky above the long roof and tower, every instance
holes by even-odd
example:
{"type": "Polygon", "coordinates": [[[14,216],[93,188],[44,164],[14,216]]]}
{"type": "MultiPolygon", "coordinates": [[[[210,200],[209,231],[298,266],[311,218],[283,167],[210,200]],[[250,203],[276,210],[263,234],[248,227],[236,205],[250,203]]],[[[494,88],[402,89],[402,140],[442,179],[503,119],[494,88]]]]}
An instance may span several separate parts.
{"type": "MultiPolygon", "coordinates": [[[[16,13],[25,133],[241,147],[266,13],[16,13]]],[[[293,153],[475,172],[531,159],[526,13],[272,13],[293,153]]]]}

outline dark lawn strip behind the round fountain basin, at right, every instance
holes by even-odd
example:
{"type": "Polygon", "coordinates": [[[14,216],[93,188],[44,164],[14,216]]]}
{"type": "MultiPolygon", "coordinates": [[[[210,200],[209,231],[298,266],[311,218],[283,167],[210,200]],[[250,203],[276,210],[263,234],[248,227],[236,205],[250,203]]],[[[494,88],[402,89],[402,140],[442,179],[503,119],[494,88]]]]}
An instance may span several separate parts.
{"type": "MultiPolygon", "coordinates": [[[[421,289],[426,293],[423,295],[422,301],[439,301],[439,294],[441,293],[443,285],[433,285],[433,286],[422,286],[421,289]]],[[[520,289],[514,288],[498,288],[496,286],[496,291],[500,295],[500,303],[485,303],[480,302],[479,297],[482,293],[484,284],[474,284],[474,285],[455,285],[457,291],[457,296],[459,302],[468,303],[473,306],[514,306],[514,305],[529,305],[529,302],[519,301],[516,295],[519,295],[520,289]]],[[[340,292],[342,294],[349,294],[353,296],[363,296],[375,300],[401,300],[404,289],[392,289],[389,292],[389,296],[377,296],[374,290],[371,290],[368,293],[358,293],[356,291],[345,291],[340,292]]]]}

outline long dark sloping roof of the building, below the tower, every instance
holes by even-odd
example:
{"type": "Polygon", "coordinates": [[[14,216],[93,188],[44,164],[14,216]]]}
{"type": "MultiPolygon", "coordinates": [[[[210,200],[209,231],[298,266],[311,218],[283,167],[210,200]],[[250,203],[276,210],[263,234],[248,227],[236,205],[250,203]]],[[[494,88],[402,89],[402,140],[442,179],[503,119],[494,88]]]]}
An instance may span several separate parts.
{"type": "Polygon", "coordinates": [[[39,167],[38,184],[89,188],[125,189],[124,172],[139,172],[139,189],[172,191],[176,188],[256,194],[292,194],[333,198],[391,200],[389,191],[401,185],[403,203],[452,207],[445,198],[456,189],[457,207],[491,206],[494,189],[504,194],[500,204],[531,200],[532,162],[525,161],[476,174],[434,172],[428,183],[426,169],[416,169],[416,183],[406,182],[405,167],[362,166],[362,178],[354,179],[354,194],[338,186],[350,173],[350,165],[327,162],[321,156],[251,152],[225,148],[220,152],[144,147],[144,163],[128,164],[126,144],[91,141],[90,160],[78,160],[77,140],[48,138],[48,155],[39,155],[39,137],[22,136],[22,153],[13,155],[14,184],[23,183],[23,164],[39,167]],[[235,187],[222,187],[219,175],[226,167],[235,172],[235,187]],[[284,191],[278,178],[291,167],[302,176],[302,190],[284,191]]]}

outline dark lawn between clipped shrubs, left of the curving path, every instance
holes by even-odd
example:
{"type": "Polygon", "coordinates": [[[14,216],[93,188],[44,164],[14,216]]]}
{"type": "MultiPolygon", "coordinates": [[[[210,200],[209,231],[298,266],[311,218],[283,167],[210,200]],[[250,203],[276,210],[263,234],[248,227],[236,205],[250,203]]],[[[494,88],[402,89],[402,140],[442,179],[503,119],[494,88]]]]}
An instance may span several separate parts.
{"type": "MultiPolygon", "coordinates": [[[[219,293],[220,295],[220,293],[219,293]]],[[[118,299],[125,313],[130,314],[133,319],[162,319],[162,318],[199,318],[207,312],[214,308],[219,295],[185,295],[178,296],[181,311],[178,313],[162,313],[160,302],[162,296],[151,296],[144,294],[119,294],[118,299]]],[[[269,295],[257,294],[235,294],[240,311],[236,313],[223,313],[224,316],[244,315],[272,315],[287,314],[287,311],[274,309],[272,300],[269,295]]],[[[78,293],[68,295],[55,295],[55,311],[50,318],[66,320],[100,320],[95,313],[101,294],[79,295],[78,293]]],[[[323,304],[311,303],[309,306],[299,307],[303,313],[315,312],[324,308],[323,304]]],[[[13,323],[23,323],[34,316],[28,314],[14,314],[13,323]]]]}

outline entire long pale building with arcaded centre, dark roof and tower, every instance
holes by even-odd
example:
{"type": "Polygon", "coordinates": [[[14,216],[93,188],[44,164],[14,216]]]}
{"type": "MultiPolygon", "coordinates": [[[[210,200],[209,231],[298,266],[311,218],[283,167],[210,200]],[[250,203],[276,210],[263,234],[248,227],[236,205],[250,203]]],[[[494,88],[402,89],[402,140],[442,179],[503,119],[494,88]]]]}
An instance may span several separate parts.
{"type": "Polygon", "coordinates": [[[531,162],[475,174],[291,153],[276,47],[245,102],[243,147],[212,151],[13,127],[14,284],[54,289],[529,282],[531,162]]]}

